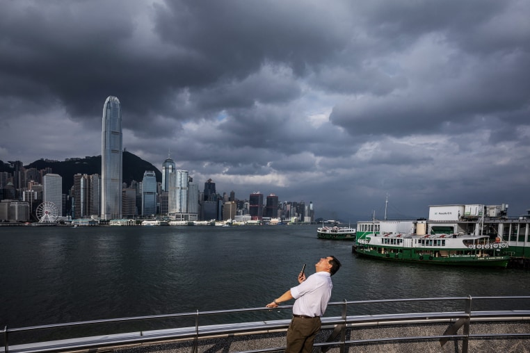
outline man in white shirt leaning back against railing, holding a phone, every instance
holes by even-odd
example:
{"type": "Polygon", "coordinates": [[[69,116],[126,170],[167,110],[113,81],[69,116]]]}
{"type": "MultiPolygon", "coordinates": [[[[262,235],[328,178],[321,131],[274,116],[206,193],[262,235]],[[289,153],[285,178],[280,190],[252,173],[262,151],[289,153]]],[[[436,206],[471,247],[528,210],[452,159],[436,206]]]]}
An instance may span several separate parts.
{"type": "Polygon", "coordinates": [[[293,319],[287,330],[287,349],[285,352],[312,352],[314,337],[320,330],[320,318],[324,315],[331,298],[333,284],[331,276],[340,268],[335,256],[321,258],[314,265],[316,272],[305,278],[305,273],[298,274],[298,286],[293,287],[278,299],[267,304],[276,308],[280,303],[296,299],[293,306],[293,319]]]}

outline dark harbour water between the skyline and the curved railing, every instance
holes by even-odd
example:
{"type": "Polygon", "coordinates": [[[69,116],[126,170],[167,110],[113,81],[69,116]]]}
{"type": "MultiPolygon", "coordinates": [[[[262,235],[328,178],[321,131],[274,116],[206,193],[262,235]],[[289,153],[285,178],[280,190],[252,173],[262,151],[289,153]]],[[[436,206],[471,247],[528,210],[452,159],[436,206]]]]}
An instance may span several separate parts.
{"type": "Polygon", "coordinates": [[[262,307],[328,255],[332,302],[530,293],[524,270],[357,258],[316,226],[0,227],[0,325],[262,307]]]}

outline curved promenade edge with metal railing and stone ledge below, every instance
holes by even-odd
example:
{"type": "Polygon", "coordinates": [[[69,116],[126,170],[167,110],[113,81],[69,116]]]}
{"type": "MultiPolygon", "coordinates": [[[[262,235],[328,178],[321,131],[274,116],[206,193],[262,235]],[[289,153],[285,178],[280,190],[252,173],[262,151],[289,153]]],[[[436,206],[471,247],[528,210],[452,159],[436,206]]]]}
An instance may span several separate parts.
{"type": "MultiPolygon", "coordinates": [[[[6,326],[0,334],[4,353],[282,352],[291,308],[6,326]],[[225,319],[209,322],[218,315],[225,319]],[[195,325],[179,325],[182,320],[195,325]],[[87,335],[95,327],[104,332],[87,335]]],[[[530,296],[345,300],[330,303],[328,312],[314,352],[530,352],[530,296]]]]}

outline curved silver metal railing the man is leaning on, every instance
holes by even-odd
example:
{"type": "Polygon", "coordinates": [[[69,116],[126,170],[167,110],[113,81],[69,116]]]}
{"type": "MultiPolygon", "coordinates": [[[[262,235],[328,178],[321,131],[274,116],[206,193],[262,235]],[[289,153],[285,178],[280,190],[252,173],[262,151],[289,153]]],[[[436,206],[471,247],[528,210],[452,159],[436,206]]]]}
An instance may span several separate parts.
{"type": "MultiPolygon", "coordinates": [[[[527,332],[480,332],[471,333],[470,327],[472,323],[476,322],[499,322],[499,321],[530,321],[530,310],[472,310],[472,304],[481,301],[495,301],[497,306],[513,306],[517,300],[526,300],[526,308],[530,305],[530,296],[517,297],[431,297],[431,298],[410,298],[410,299],[378,299],[378,300],[361,300],[361,301],[346,301],[331,302],[328,305],[328,311],[335,309],[340,310],[339,316],[330,316],[322,318],[323,329],[332,330],[326,342],[317,342],[315,347],[320,347],[322,352],[326,352],[332,347],[338,347],[341,353],[346,351],[347,347],[359,345],[374,345],[387,343],[410,343],[410,342],[424,342],[438,340],[440,345],[444,345],[449,340],[461,343],[460,352],[467,353],[469,350],[469,340],[480,339],[522,339],[530,338],[530,330],[527,332]],[[454,311],[460,308],[462,304],[453,304],[453,302],[464,302],[462,311],[454,311]],[[402,304],[408,303],[413,306],[421,306],[424,303],[441,303],[443,306],[449,306],[453,311],[415,311],[415,312],[401,312],[396,310],[393,313],[387,313],[387,308],[407,308],[402,304]],[[509,302],[509,303],[508,303],[509,302]],[[509,305],[508,305],[509,304],[509,305]],[[362,309],[363,307],[369,309],[362,309]],[[334,309],[335,308],[335,309],[334,309]],[[348,311],[353,311],[357,315],[348,315],[348,311]],[[361,315],[364,314],[364,315],[361,315]],[[381,327],[382,325],[424,325],[426,323],[447,324],[448,327],[442,334],[431,334],[428,336],[390,336],[390,337],[374,337],[361,338],[354,337],[354,329],[369,329],[370,327],[381,327]],[[458,331],[462,329],[462,333],[458,331]],[[348,339],[349,335],[349,339],[348,339]],[[337,340],[338,338],[338,340],[337,340]]],[[[430,306],[423,305],[424,307],[430,306]]],[[[35,352],[66,352],[75,350],[93,350],[103,347],[117,347],[124,345],[145,344],[153,342],[167,342],[176,339],[191,340],[192,352],[198,352],[200,339],[206,339],[213,336],[219,337],[222,335],[233,336],[234,334],[252,334],[252,333],[270,333],[285,331],[289,326],[290,319],[283,320],[264,320],[258,322],[237,322],[235,324],[222,325],[200,325],[204,321],[204,317],[210,315],[225,315],[225,314],[241,314],[241,313],[269,313],[273,311],[284,312],[292,308],[292,305],[279,306],[275,309],[269,308],[250,308],[250,309],[232,309],[221,311],[195,311],[193,313],[174,313],[165,315],[149,315],[136,316],[131,318],[115,318],[105,320],[91,320],[83,322],[70,322],[54,325],[41,325],[33,327],[20,327],[10,329],[8,326],[3,328],[3,347],[4,352],[13,353],[35,353],[35,352]],[[193,318],[195,321],[194,327],[173,327],[172,329],[159,329],[154,331],[140,331],[138,333],[129,334],[111,334],[91,337],[75,337],[70,339],[62,338],[61,340],[53,340],[48,342],[34,342],[10,346],[10,337],[12,334],[26,334],[31,338],[31,334],[35,331],[50,330],[50,329],[65,329],[72,327],[83,327],[87,325],[108,325],[123,322],[143,322],[146,320],[161,320],[161,319],[175,319],[175,318],[193,318]]],[[[406,310],[406,309],[405,309],[406,310]]],[[[350,313],[350,314],[353,314],[350,313]]],[[[264,347],[259,350],[239,350],[239,352],[257,353],[257,352],[273,352],[284,350],[282,347],[264,347]]]]}

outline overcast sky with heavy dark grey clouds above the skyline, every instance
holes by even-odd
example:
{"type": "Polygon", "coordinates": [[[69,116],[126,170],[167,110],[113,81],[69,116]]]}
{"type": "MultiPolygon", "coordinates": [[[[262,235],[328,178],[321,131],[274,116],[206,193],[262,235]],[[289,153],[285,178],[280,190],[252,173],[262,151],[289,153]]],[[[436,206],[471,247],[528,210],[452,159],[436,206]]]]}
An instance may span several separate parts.
{"type": "Polygon", "coordinates": [[[316,217],[530,208],[530,0],[0,0],[0,160],[123,147],[316,217]]]}

